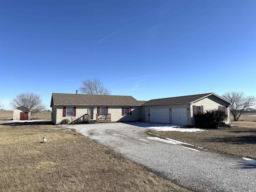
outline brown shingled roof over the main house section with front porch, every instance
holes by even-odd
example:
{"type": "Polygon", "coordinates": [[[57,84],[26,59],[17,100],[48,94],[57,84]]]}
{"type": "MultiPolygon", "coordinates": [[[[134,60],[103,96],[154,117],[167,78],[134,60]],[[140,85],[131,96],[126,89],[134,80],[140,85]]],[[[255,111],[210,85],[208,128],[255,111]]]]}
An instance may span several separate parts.
{"type": "Polygon", "coordinates": [[[52,105],[140,106],[132,96],[52,93],[52,105]]]}

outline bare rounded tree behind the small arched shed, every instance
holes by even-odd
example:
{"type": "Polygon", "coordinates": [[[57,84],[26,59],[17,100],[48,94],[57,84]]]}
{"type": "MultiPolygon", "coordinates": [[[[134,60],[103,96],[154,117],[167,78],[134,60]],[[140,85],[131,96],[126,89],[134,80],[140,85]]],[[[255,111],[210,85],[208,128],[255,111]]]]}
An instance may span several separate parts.
{"type": "Polygon", "coordinates": [[[46,106],[42,104],[40,95],[34,94],[33,92],[17,95],[16,98],[10,102],[10,106],[13,108],[26,106],[31,110],[31,113],[40,112],[46,108],[46,106]]]}

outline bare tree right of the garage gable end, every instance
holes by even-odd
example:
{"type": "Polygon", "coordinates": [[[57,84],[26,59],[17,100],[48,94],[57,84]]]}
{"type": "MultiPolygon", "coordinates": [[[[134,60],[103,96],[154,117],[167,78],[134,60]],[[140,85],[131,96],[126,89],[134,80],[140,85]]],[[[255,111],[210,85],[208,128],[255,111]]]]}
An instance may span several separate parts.
{"type": "Polygon", "coordinates": [[[232,103],[230,113],[234,121],[238,121],[244,110],[254,106],[256,102],[255,96],[245,96],[243,92],[226,92],[222,97],[232,103]]]}

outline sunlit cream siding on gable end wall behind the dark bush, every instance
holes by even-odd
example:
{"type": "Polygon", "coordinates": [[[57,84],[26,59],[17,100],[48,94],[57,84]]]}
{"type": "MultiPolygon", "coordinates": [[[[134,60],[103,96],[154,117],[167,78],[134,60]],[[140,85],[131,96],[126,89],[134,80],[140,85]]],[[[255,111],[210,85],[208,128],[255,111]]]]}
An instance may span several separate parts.
{"type": "Polygon", "coordinates": [[[230,108],[229,103],[224,100],[217,98],[214,95],[208,96],[202,100],[191,104],[190,106],[190,117],[191,117],[191,125],[196,125],[195,118],[193,117],[193,105],[195,106],[204,106],[204,112],[206,110],[218,110],[219,106],[228,106],[228,118],[224,121],[226,124],[230,124],[230,108]]]}

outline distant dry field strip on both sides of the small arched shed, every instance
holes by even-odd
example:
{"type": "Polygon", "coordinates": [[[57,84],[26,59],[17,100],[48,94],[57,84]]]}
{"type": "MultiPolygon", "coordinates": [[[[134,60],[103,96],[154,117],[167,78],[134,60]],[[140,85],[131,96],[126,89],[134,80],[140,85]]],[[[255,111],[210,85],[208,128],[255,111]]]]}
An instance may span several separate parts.
{"type": "MultiPolygon", "coordinates": [[[[38,112],[31,114],[31,120],[49,120],[52,118],[52,112],[38,112]]],[[[0,110],[0,120],[12,120],[13,111],[9,110],[0,110]]]]}

